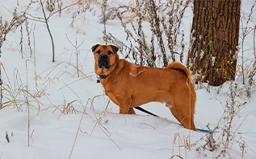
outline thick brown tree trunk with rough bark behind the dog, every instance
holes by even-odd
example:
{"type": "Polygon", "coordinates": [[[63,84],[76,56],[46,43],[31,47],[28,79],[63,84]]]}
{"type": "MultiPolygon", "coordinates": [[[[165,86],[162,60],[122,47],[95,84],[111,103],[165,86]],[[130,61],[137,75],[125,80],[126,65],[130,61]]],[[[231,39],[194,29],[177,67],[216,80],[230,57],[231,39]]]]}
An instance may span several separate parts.
{"type": "Polygon", "coordinates": [[[219,86],[234,80],[241,0],[194,0],[187,66],[196,82],[219,86]]]}

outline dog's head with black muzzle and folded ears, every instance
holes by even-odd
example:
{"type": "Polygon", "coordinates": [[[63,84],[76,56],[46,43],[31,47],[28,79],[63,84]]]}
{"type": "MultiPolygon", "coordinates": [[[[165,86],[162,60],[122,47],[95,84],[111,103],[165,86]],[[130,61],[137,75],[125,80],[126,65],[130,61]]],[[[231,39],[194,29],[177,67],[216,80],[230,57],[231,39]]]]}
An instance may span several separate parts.
{"type": "Polygon", "coordinates": [[[118,47],[96,44],[91,47],[91,51],[94,52],[95,73],[97,75],[110,74],[110,72],[113,71],[111,67],[113,67],[119,59],[116,54],[118,47]]]}

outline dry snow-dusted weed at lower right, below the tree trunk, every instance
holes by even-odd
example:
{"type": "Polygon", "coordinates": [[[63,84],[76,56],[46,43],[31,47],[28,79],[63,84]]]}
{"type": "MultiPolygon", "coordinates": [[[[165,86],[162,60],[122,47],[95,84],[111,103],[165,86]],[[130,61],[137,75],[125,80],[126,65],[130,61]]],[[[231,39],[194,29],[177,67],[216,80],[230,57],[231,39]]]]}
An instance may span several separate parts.
{"type": "Polygon", "coordinates": [[[239,88],[237,88],[237,84],[231,82],[229,85],[229,93],[225,93],[226,97],[226,104],[225,104],[225,112],[220,117],[219,122],[216,124],[216,127],[213,129],[209,128],[209,125],[207,126],[208,129],[211,131],[210,133],[207,133],[204,137],[201,137],[198,141],[195,141],[193,145],[197,145],[199,141],[205,141],[206,143],[204,145],[200,145],[199,148],[196,149],[200,153],[200,151],[204,151],[205,149],[209,151],[217,151],[219,154],[217,154],[216,158],[222,158],[222,157],[230,157],[229,150],[232,149],[232,146],[234,145],[234,142],[237,142],[239,146],[241,147],[241,153],[242,156],[244,155],[245,151],[245,142],[239,142],[237,140],[237,132],[238,129],[241,127],[241,124],[244,123],[247,116],[249,115],[249,112],[244,117],[244,119],[241,121],[240,124],[235,123],[234,120],[239,116],[240,111],[242,109],[246,109],[246,105],[240,103],[236,100],[237,92],[239,88]],[[216,133],[216,130],[221,128],[222,132],[220,133],[220,136],[217,137],[215,140],[213,135],[216,133]],[[220,148],[220,145],[222,145],[222,148],[220,148]],[[207,148],[208,147],[208,148],[207,148]]]}

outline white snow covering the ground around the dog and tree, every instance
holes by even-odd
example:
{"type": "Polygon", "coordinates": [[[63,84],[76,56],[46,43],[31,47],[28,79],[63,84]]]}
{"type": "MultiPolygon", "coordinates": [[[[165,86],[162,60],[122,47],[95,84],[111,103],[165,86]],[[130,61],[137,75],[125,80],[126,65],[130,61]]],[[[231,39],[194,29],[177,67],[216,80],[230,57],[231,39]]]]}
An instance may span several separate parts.
{"type": "MultiPolygon", "coordinates": [[[[29,2],[2,0],[0,15],[3,20],[10,21],[10,12],[18,7],[20,14],[26,10],[29,2]]],[[[71,1],[63,1],[64,6],[70,4],[71,1]]],[[[119,0],[108,4],[118,6],[135,3],[119,0]]],[[[248,10],[252,5],[250,0],[242,1],[243,21],[247,20],[246,15],[250,13],[248,10]]],[[[91,4],[91,8],[91,11],[87,10],[73,18],[73,12],[78,6],[70,6],[61,12],[61,16],[53,14],[49,18],[56,51],[55,63],[52,63],[52,43],[44,22],[28,21],[33,52],[31,57],[25,26],[23,58],[19,47],[20,27],[6,36],[1,55],[2,86],[5,88],[2,102],[16,103],[4,104],[0,109],[0,158],[217,157],[224,148],[221,145],[221,141],[225,141],[221,139],[226,122],[223,116],[225,105],[230,102],[229,87],[232,84],[227,82],[217,88],[196,85],[195,126],[213,129],[219,125],[216,133],[212,134],[216,142],[208,137],[208,133],[193,132],[180,126],[164,104],[149,103],[142,106],[161,116],[160,118],[143,112],[120,115],[119,108],[104,96],[102,85],[96,83],[94,56],[90,48],[96,43],[103,43],[103,24],[98,22],[101,9],[97,1],[91,4]],[[78,48],[78,67],[81,70],[79,76],[75,67],[77,52],[67,37],[73,44],[76,40],[78,45],[82,43],[78,48]],[[10,143],[6,140],[6,133],[10,143]],[[207,139],[211,140],[212,145],[216,145],[216,150],[204,149],[207,139]]],[[[43,17],[39,3],[33,3],[27,13],[43,17]]],[[[188,11],[181,24],[186,43],[189,39],[188,23],[191,23],[191,14],[191,10],[188,11]]],[[[254,13],[249,22],[251,27],[255,25],[255,20],[254,13]]],[[[125,41],[126,33],[117,18],[109,20],[106,27],[107,32],[125,41]]],[[[145,29],[149,31],[149,27],[145,29]]],[[[245,48],[246,57],[253,59],[253,35],[248,35],[245,42],[245,47],[248,48],[245,48]]],[[[121,55],[120,57],[122,58],[121,55]]],[[[235,104],[239,107],[237,106],[237,114],[234,114],[232,123],[233,140],[229,144],[229,155],[225,157],[254,158],[255,86],[250,88],[249,98],[246,96],[248,86],[241,84],[241,75],[237,75],[234,83],[237,83],[235,104]]]]}

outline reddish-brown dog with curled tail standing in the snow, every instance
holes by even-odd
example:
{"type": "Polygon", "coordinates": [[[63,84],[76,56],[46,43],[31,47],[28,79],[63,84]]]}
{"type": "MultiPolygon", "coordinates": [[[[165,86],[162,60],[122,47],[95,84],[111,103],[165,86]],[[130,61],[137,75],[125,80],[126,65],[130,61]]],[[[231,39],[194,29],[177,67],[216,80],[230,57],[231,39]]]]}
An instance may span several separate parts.
{"type": "Polygon", "coordinates": [[[106,95],[120,106],[120,113],[135,114],[133,107],[151,101],[166,103],[185,128],[195,129],[195,88],[190,71],[182,63],[166,68],[142,67],[119,59],[118,48],[94,45],[95,73],[106,95]]]}

